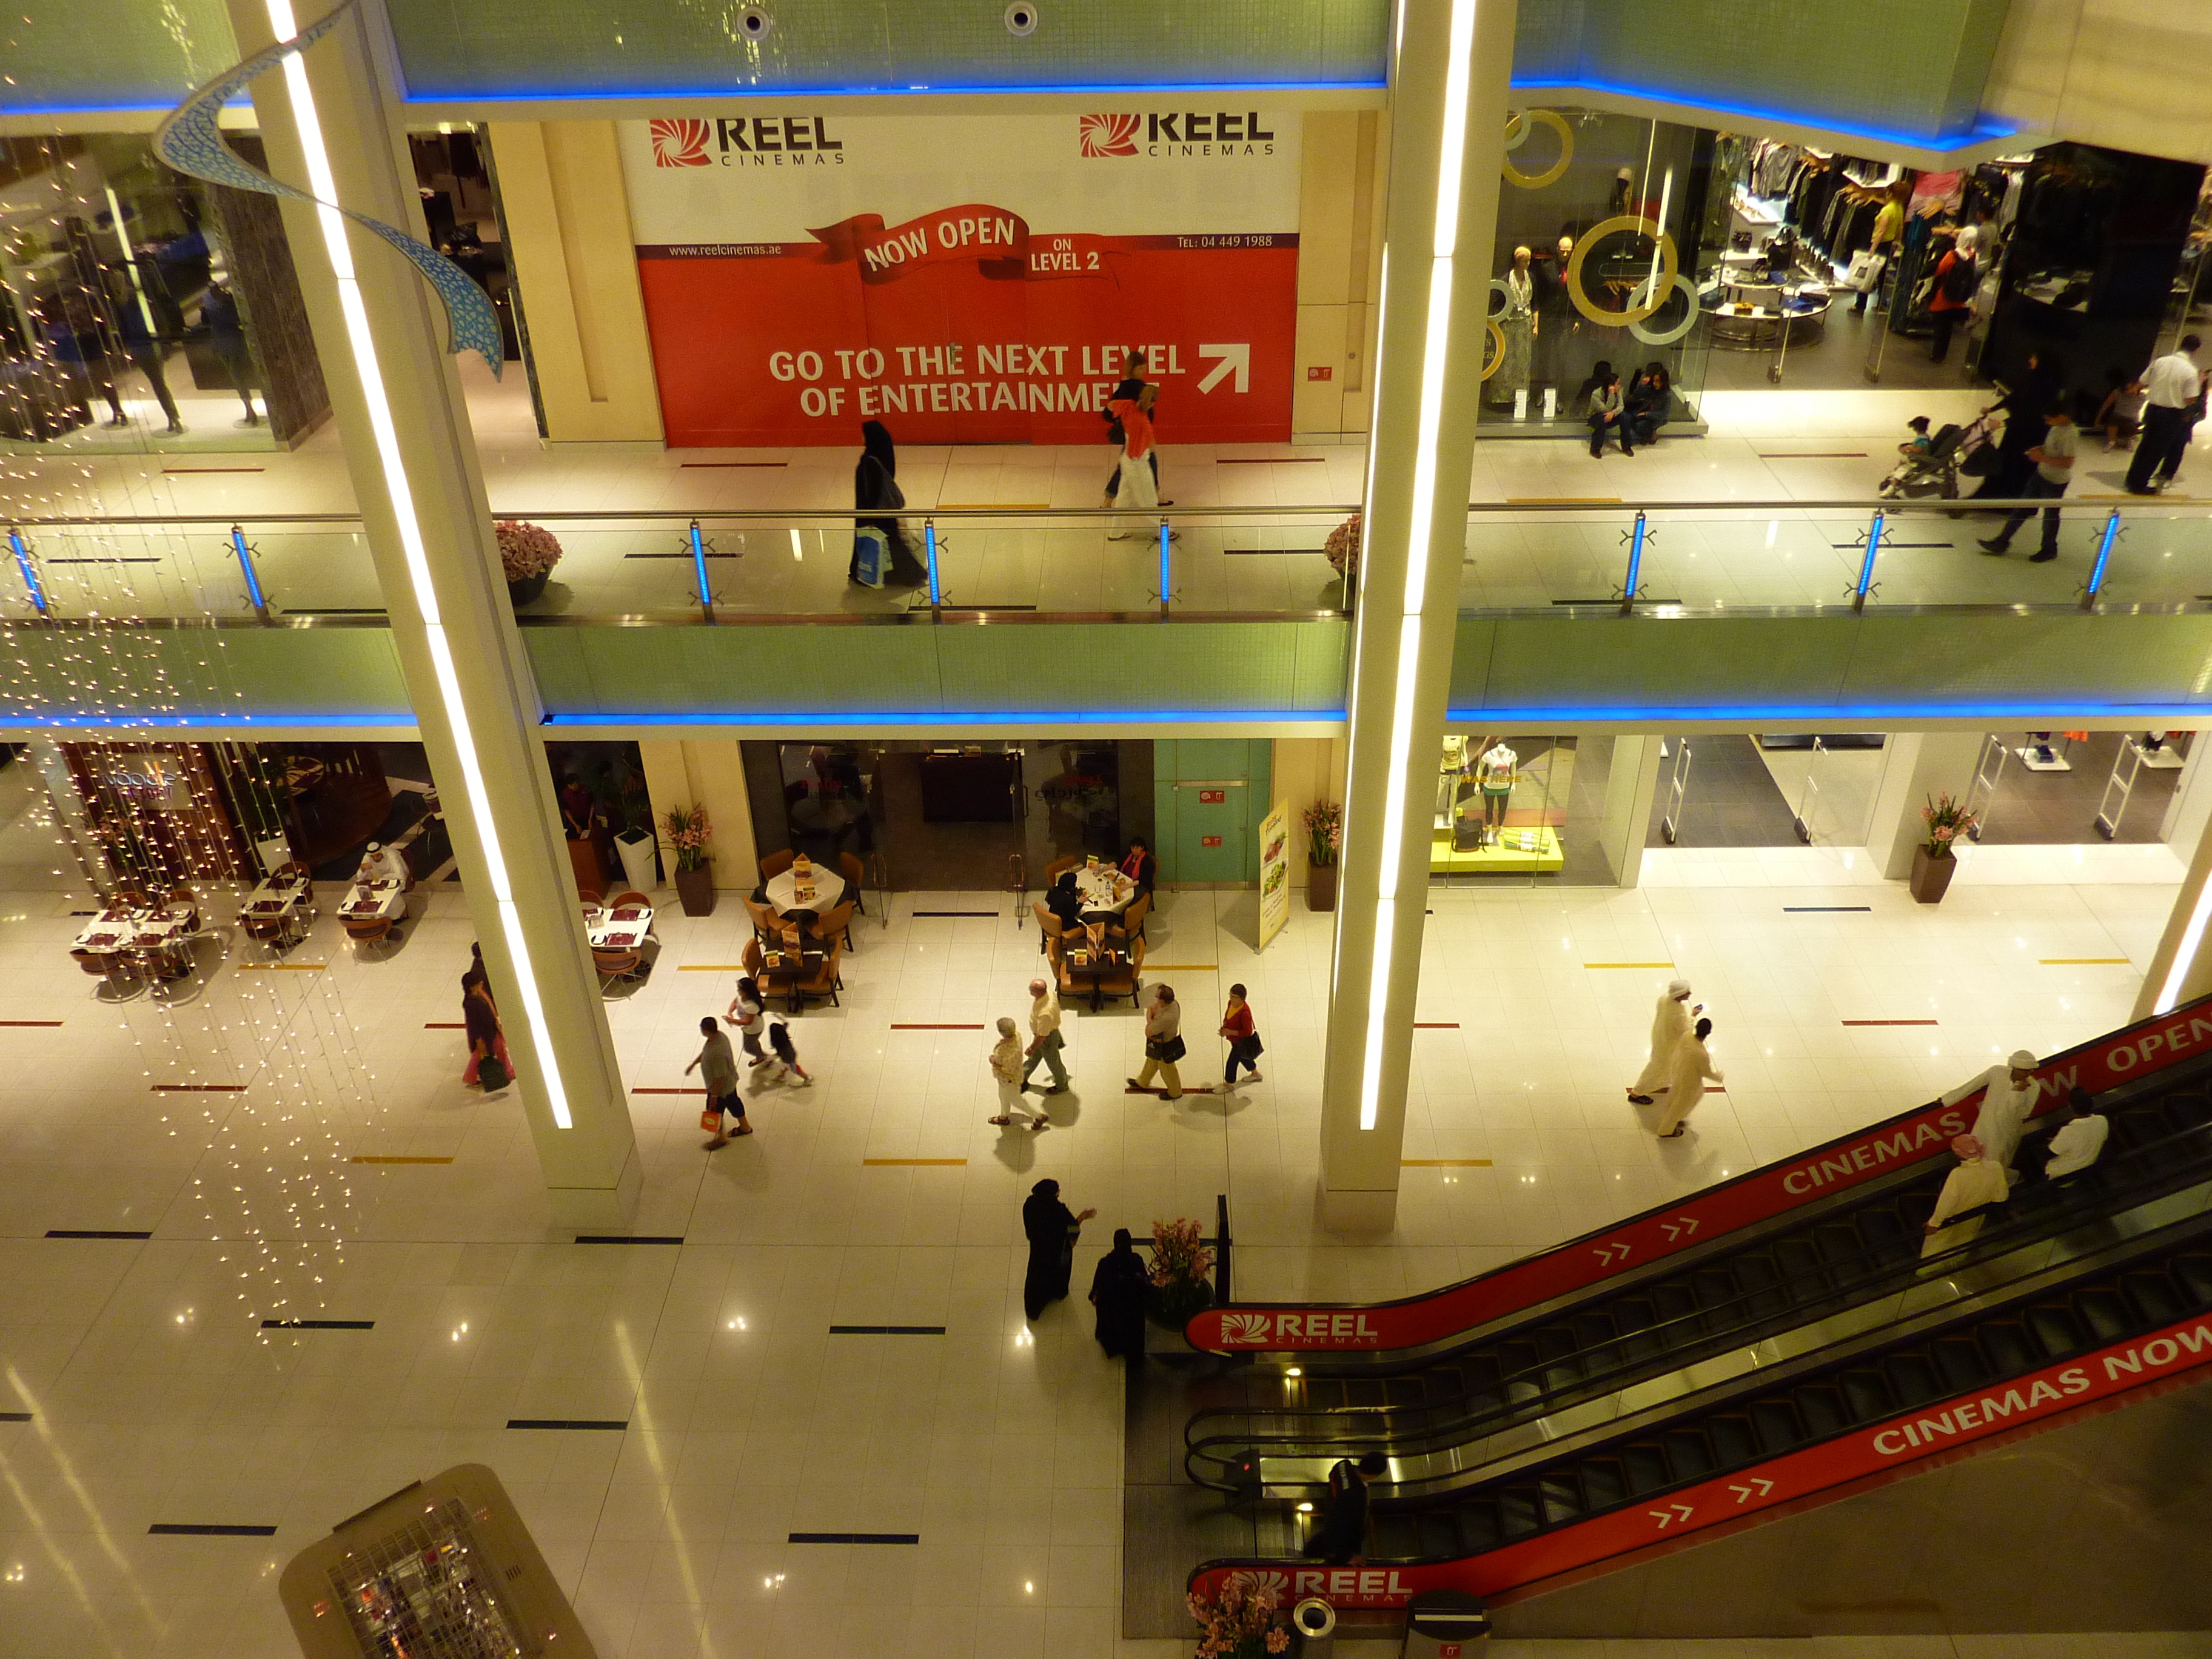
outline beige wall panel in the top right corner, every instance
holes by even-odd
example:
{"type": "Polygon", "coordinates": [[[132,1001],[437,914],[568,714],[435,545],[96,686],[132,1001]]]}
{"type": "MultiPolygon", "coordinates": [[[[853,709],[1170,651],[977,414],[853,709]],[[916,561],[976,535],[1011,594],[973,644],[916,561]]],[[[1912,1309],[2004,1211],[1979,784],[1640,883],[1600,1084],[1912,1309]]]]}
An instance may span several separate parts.
{"type": "Polygon", "coordinates": [[[2212,4],[2011,0],[1982,108],[2035,133],[2212,161],[2212,4]]]}

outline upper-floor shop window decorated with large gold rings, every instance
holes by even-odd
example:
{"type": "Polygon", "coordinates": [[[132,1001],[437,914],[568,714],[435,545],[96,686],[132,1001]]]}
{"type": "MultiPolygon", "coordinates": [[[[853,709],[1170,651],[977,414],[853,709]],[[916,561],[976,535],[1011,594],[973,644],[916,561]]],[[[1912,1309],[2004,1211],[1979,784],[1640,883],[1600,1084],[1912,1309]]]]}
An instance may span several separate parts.
{"type": "MultiPolygon", "coordinates": [[[[1582,431],[1599,365],[1652,429],[1694,429],[1712,133],[1582,108],[1506,128],[1482,418],[1582,431]],[[1648,374],[1657,365],[1659,374],[1648,374]]],[[[1725,186],[1721,186],[1725,190],[1725,186]]]]}

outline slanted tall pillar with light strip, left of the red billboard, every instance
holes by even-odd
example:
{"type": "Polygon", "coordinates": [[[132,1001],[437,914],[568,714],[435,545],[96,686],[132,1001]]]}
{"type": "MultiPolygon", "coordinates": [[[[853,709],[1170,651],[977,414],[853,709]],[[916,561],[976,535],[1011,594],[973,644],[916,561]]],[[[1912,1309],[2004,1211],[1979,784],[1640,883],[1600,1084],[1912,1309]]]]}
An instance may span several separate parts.
{"type": "MultiPolygon", "coordinates": [[[[230,20],[241,53],[296,31],[290,0],[230,0],[230,20]]],[[[361,0],[252,97],[279,179],[422,234],[389,86],[383,4],[361,0]]],[[[553,1214],[622,1225],[637,1146],[445,314],[374,234],[296,201],[283,215],[553,1214]]]]}

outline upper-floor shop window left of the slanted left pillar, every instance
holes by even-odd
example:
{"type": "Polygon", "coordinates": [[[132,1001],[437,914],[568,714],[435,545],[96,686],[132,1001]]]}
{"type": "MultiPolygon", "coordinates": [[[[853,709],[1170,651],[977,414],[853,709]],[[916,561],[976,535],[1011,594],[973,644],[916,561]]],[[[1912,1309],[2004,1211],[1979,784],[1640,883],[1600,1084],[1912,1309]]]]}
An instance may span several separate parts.
{"type": "Polygon", "coordinates": [[[0,139],[0,449],[272,449],[327,414],[274,201],[144,135],[0,139]]]}

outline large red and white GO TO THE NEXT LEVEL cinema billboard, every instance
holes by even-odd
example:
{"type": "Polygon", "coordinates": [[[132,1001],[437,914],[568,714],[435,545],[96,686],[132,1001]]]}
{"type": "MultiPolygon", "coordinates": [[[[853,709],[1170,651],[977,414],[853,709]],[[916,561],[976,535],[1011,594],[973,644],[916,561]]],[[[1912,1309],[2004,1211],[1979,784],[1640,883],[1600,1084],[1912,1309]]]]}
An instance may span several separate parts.
{"type": "Polygon", "coordinates": [[[1285,442],[1298,111],[1199,102],[622,122],[668,442],[1104,442],[1130,345],[1164,442],[1285,442]]]}

